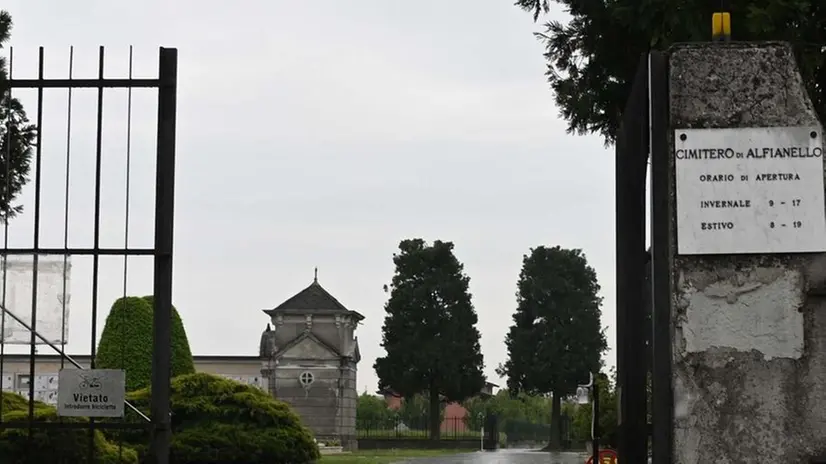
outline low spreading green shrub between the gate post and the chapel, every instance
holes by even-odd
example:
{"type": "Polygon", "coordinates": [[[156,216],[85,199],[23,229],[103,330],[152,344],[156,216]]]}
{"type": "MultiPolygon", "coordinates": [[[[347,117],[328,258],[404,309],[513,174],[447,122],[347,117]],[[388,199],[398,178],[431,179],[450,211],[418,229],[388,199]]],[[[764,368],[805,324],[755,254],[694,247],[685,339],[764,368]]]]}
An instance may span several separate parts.
{"type": "MultiPolygon", "coordinates": [[[[128,399],[146,411],[150,388],[128,399]]],[[[319,458],[298,416],[256,387],[204,373],[183,375],[172,381],[171,405],[171,463],[302,464],[319,458]]]]}

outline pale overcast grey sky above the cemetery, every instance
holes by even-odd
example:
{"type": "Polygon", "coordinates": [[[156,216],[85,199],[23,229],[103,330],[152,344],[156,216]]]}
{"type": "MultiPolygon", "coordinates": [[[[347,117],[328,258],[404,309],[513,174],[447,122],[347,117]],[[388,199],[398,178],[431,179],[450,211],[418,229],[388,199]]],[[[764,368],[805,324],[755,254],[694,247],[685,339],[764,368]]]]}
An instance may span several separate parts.
{"type": "MultiPolygon", "coordinates": [[[[359,389],[374,390],[382,285],[403,238],[450,240],[471,278],[485,372],[506,356],[522,255],[584,249],[614,338],[613,151],[565,133],[539,26],[510,0],[111,2],[15,0],[16,77],[157,72],[179,50],[174,302],[195,354],[255,355],[273,307],[312,282],[366,316],[359,389]]],[[[562,18],[561,15],[552,15],[562,18]]],[[[4,50],[7,54],[8,50],[4,50]]],[[[95,90],[73,96],[69,242],[91,245],[95,90]]],[[[17,94],[32,117],[33,92],[17,94]]],[[[103,237],[121,246],[126,92],[105,97],[103,237]]],[[[133,94],[130,245],[152,243],[155,93],[133,94]]],[[[66,92],[44,104],[43,246],[62,245],[66,92]]],[[[28,214],[12,245],[30,241],[28,214]]],[[[69,351],[88,353],[90,264],[75,259],[69,351]]],[[[122,294],[101,263],[98,329],[122,294]]],[[[151,261],[129,262],[129,294],[151,293],[151,261]]],[[[45,352],[41,349],[41,352],[45,352]]],[[[614,363],[609,353],[609,363],[614,363]]]]}

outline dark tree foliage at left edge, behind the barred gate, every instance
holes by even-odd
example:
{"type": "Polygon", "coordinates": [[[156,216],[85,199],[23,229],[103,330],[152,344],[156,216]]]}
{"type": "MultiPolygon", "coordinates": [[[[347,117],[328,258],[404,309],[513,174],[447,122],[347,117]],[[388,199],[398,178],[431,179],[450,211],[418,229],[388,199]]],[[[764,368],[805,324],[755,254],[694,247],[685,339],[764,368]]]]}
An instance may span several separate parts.
{"type": "MultiPolygon", "coordinates": [[[[12,20],[8,11],[0,11],[0,48],[11,36],[12,20]]],[[[7,221],[23,212],[15,204],[20,190],[29,181],[32,151],[37,128],[29,123],[23,105],[9,98],[3,86],[8,80],[8,64],[0,58],[0,221],[7,221]]]]}

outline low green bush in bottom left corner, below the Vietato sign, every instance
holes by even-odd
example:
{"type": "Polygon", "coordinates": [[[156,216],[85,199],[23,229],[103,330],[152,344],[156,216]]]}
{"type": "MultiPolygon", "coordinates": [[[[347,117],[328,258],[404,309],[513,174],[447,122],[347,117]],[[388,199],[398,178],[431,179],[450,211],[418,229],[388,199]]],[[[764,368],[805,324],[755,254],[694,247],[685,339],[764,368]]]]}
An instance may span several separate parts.
{"type": "MultiPolygon", "coordinates": [[[[29,418],[28,400],[14,393],[3,392],[3,422],[26,422],[29,418]],[[8,408],[8,409],[7,409],[8,408]]],[[[59,417],[57,410],[44,403],[35,402],[34,420],[38,422],[82,423],[85,418],[59,417]]],[[[100,431],[95,431],[96,464],[136,464],[138,454],[134,449],[118,447],[107,441],[100,431]]],[[[3,429],[0,431],[0,462],[3,464],[58,464],[66,462],[90,462],[89,431],[86,428],[35,429],[30,439],[28,430],[3,429]]]]}

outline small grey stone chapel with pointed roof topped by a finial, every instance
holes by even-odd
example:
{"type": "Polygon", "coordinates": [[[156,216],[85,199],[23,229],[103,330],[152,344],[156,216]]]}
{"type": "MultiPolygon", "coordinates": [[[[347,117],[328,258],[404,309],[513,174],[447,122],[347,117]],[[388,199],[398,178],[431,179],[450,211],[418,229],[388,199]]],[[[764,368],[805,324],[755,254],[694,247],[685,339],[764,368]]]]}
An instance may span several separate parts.
{"type": "Polygon", "coordinates": [[[270,394],[289,404],[316,439],[356,449],[356,373],[361,360],[351,311],[318,283],[273,309],[261,336],[261,374],[270,394]]]}

